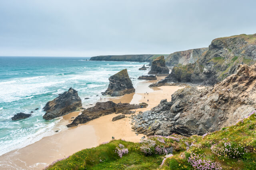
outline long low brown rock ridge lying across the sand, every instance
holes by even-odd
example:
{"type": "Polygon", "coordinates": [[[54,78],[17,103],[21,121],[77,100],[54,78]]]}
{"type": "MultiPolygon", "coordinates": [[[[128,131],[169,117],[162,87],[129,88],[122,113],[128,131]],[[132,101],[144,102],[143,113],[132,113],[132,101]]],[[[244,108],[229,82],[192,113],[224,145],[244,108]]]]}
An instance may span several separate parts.
{"type": "Polygon", "coordinates": [[[142,104],[128,104],[128,103],[114,103],[111,101],[108,102],[97,102],[95,106],[85,109],[81,115],[78,115],[74,121],[68,125],[68,127],[77,126],[78,124],[86,123],[93,119],[96,119],[100,116],[109,115],[112,113],[121,113],[126,110],[138,109],[141,106],[145,107],[144,103],[142,104]]]}

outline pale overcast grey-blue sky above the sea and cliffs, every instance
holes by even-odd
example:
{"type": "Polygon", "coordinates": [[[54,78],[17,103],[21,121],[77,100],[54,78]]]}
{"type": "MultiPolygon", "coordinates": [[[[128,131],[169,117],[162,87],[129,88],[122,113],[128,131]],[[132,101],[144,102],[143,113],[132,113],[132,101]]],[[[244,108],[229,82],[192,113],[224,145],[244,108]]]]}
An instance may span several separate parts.
{"type": "Polygon", "coordinates": [[[256,33],[256,0],[0,0],[0,56],[170,54],[256,33]]]}

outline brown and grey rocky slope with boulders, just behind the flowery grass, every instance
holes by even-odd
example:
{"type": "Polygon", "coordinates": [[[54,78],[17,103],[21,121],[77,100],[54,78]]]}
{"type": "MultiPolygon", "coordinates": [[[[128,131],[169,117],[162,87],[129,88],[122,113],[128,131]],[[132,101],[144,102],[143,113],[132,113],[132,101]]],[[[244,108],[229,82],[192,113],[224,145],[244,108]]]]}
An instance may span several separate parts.
{"type": "Polygon", "coordinates": [[[238,65],[235,74],[197,90],[187,87],[150,111],[133,115],[133,129],[146,135],[203,135],[236,123],[256,109],[256,64],[238,65]]]}

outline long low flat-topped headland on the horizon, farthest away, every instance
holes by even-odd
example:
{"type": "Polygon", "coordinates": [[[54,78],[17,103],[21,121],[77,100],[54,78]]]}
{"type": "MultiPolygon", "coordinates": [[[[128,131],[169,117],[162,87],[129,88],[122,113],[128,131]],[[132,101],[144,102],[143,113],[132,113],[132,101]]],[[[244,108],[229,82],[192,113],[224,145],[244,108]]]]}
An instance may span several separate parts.
{"type": "MultiPolygon", "coordinates": [[[[142,54],[142,55],[101,55],[91,57],[90,61],[136,61],[136,62],[149,62],[151,63],[156,57],[163,54],[142,54]]],[[[164,57],[167,57],[165,54],[164,57]]]]}

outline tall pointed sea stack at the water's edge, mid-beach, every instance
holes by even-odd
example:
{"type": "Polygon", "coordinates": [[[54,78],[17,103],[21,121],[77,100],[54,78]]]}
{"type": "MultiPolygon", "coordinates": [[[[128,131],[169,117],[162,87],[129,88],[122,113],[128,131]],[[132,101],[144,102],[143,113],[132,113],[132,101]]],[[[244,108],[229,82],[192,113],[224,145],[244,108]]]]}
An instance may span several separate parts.
{"type": "Polygon", "coordinates": [[[123,96],[124,94],[130,94],[135,92],[135,89],[132,86],[132,81],[129,78],[127,69],[121,70],[113,76],[110,76],[108,80],[108,89],[106,90],[106,92],[103,92],[102,95],[123,96]]]}

